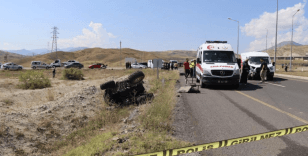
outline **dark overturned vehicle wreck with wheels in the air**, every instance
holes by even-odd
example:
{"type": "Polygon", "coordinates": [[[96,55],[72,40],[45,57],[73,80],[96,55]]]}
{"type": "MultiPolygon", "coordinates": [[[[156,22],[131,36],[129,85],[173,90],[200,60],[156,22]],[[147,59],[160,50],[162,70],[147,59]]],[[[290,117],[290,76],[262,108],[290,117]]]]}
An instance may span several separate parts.
{"type": "Polygon", "coordinates": [[[145,104],[154,99],[143,87],[145,75],[142,71],[131,74],[123,81],[108,81],[100,85],[105,90],[104,101],[109,105],[145,104]]]}

